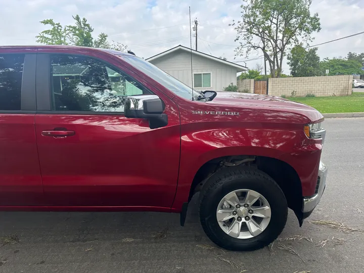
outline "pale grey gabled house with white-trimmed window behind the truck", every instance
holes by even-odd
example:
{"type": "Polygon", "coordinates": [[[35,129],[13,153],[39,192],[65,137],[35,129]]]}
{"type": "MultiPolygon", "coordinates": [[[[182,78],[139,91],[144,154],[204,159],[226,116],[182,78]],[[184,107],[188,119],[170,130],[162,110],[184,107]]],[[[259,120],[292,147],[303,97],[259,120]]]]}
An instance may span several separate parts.
{"type": "Polygon", "coordinates": [[[231,83],[236,85],[237,72],[247,70],[245,66],[192,50],[193,75],[191,75],[191,50],[183,45],[146,60],[188,86],[192,86],[193,78],[196,90],[220,91],[231,83]]]}

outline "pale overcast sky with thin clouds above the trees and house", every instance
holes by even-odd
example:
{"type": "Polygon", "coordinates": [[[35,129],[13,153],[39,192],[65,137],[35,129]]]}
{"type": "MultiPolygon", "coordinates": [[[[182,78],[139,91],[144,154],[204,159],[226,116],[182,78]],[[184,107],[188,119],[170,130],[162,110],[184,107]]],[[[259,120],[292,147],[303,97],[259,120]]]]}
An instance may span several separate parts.
{"type": "MultiPolygon", "coordinates": [[[[199,21],[198,50],[229,61],[246,60],[235,56],[236,32],[228,24],[240,18],[239,0],[0,0],[0,44],[36,44],[35,35],[45,27],[43,19],[62,25],[72,24],[72,15],[85,17],[95,29],[94,37],[105,32],[128,45],[136,55],[148,58],[178,44],[190,47],[188,9],[199,21]]],[[[363,31],[363,0],[313,0],[312,13],[319,13],[322,30],[313,44],[363,31]]],[[[192,44],[195,44],[193,38],[192,44]]],[[[319,55],[345,57],[364,52],[364,34],[319,47],[319,55]]],[[[260,56],[253,53],[248,58],[260,56]]],[[[244,63],[241,63],[244,65],[244,63]]],[[[262,64],[250,61],[249,68],[262,64]]],[[[287,64],[284,73],[289,73],[287,64]]]]}

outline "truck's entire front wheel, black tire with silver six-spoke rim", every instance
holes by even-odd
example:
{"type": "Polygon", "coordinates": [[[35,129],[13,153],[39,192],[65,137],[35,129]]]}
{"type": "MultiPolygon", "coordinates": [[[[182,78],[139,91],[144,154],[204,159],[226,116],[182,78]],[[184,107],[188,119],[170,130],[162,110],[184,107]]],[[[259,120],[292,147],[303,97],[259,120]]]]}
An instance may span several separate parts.
{"type": "Polygon", "coordinates": [[[200,192],[200,221],[216,245],[238,251],[273,242],[287,221],[287,201],[266,173],[229,167],[213,174],[200,192]]]}

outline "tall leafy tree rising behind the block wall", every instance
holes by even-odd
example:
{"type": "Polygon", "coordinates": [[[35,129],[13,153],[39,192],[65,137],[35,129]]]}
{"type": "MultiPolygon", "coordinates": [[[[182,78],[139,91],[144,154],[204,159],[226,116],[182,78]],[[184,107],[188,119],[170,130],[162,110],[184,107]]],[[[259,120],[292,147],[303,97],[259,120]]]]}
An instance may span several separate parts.
{"type": "Polygon", "coordinates": [[[311,16],[312,0],[244,0],[242,19],[231,25],[240,41],[236,55],[246,57],[261,51],[271,77],[280,77],[283,58],[293,45],[312,41],[311,34],[320,31],[317,13],[311,16]]]}

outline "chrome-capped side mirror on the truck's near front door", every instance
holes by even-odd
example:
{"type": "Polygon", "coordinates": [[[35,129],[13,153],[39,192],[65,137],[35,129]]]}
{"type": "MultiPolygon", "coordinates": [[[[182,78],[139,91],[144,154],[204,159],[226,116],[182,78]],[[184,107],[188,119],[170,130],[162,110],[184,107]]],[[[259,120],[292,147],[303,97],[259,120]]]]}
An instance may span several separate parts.
{"type": "Polygon", "coordinates": [[[156,95],[128,96],[125,100],[125,117],[146,118],[151,129],[164,127],[168,124],[168,116],[163,114],[164,106],[156,95]]]}

